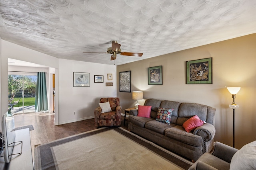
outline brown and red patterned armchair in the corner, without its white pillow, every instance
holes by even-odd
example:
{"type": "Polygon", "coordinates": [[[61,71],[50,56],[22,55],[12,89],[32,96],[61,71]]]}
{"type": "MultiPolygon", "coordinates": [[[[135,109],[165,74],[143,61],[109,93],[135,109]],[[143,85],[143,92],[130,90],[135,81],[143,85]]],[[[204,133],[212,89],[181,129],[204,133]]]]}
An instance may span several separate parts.
{"type": "Polygon", "coordinates": [[[97,107],[94,110],[94,120],[96,127],[102,126],[120,126],[121,125],[121,106],[119,98],[101,98],[100,103],[109,102],[110,112],[102,113],[102,109],[97,107]]]}

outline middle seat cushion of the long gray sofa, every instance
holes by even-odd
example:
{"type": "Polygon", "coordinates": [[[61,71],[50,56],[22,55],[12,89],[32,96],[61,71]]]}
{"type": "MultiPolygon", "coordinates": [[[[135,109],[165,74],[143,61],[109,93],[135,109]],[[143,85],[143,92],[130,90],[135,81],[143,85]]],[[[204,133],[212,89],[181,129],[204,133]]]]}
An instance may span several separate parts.
{"type": "Polygon", "coordinates": [[[159,121],[148,121],[145,124],[146,129],[150,129],[152,131],[155,131],[157,133],[161,133],[164,135],[164,130],[169,128],[169,127],[173,127],[176,126],[175,124],[166,124],[166,123],[161,123],[159,121]]]}

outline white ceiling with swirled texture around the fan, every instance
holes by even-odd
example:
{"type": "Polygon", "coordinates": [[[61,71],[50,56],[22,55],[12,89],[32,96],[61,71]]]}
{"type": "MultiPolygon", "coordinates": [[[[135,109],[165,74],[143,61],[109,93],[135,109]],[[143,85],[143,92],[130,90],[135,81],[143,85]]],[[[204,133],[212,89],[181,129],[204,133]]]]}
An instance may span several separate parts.
{"type": "Polygon", "coordinates": [[[0,0],[2,39],[77,61],[120,65],[251,33],[256,0],[0,0]],[[110,61],[112,40],[144,54],[110,61]]]}

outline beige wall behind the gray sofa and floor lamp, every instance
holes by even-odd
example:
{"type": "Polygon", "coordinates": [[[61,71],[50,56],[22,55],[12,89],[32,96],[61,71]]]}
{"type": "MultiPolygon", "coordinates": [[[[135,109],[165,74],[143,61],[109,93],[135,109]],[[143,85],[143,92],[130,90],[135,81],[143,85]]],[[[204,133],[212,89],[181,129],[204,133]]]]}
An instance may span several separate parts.
{"type": "MultiPolygon", "coordinates": [[[[143,51],[141,51],[143,52],[143,51]]],[[[143,57],[143,56],[142,56],[143,57]]],[[[236,95],[235,147],[240,149],[256,139],[256,34],[178,51],[117,66],[119,72],[131,70],[131,90],[141,90],[144,99],[157,98],[194,102],[216,108],[214,141],[233,145],[232,95],[226,87],[241,87],[236,95]],[[186,61],[212,57],[213,84],[186,84],[186,61]],[[148,67],[163,69],[163,85],[148,85],[148,67]]],[[[119,92],[122,108],[133,107],[132,93],[119,92]]],[[[140,101],[144,104],[144,100],[140,101]]]]}

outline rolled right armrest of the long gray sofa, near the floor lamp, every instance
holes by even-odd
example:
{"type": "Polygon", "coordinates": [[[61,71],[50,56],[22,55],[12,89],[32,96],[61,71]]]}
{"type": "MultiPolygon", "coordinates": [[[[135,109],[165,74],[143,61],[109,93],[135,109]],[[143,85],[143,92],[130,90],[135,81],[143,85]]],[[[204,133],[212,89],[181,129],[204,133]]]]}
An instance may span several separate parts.
{"type": "Polygon", "coordinates": [[[210,123],[204,123],[202,126],[194,130],[194,135],[201,136],[204,142],[210,141],[214,138],[215,127],[210,123]]]}

